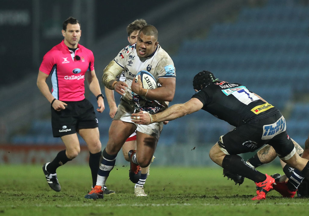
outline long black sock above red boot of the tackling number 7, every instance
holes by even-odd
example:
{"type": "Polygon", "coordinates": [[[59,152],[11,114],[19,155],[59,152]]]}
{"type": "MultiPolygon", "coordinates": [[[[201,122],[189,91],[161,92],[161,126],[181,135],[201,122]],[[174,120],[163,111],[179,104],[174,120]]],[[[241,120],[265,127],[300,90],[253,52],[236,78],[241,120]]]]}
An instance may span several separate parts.
{"type": "Polygon", "coordinates": [[[266,180],[265,174],[249,166],[239,155],[226,155],[223,158],[222,167],[232,173],[251,179],[254,182],[266,180]]]}

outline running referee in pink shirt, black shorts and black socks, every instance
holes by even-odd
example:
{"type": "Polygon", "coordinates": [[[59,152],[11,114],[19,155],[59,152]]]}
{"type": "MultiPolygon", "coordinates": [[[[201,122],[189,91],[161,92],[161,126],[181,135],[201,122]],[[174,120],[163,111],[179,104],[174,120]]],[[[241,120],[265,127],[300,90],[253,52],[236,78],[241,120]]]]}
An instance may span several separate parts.
{"type": "Polygon", "coordinates": [[[77,133],[85,140],[90,151],[89,166],[94,187],[101,157],[98,119],[92,104],[85,99],[85,78],[95,95],[98,112],[104,110],[104,96],[94,70],[91,50],[78,44],[82,30],[77,19],[69,17],[63,22],[64,40],[43,57],[39,68],[37,86],[51,103],[53,136],[61,137],[66,149],[60,151],[52,162],[43,165],[47,183],[55,190],[61,186],[56,169],[74,159],[80,152],[77,133]],[[53,89],[49,91],[46,79],[51,77],[53,89]]]}

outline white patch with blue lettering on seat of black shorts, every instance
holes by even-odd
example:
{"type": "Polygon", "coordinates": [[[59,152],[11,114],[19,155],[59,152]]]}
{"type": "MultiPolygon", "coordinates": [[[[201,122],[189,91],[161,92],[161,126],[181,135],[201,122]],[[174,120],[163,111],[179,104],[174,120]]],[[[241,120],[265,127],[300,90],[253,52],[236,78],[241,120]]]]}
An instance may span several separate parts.
{"type": "Polygon", "coordinates": [[[275,123],[263,126],[263,135],[261,139],[271,139],[284,131],[286,131],[286,120],[281,116],[275,123]]]}

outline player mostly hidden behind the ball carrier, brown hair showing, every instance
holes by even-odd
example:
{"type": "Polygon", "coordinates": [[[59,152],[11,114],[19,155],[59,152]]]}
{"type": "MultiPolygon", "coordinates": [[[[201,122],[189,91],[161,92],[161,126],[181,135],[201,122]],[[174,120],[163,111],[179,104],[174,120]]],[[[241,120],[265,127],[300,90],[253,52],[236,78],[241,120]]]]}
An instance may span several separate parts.
{"type": "MultiPolygon", "coordinates": [[[[135,44],[137,41],[137,36],[139,30],[147,25],[144,19],[136,19],[132,23],[127,26],[127,33],[128,33],[128,41],[129,44],[135,44]]],[[[124,72],[118,77],[119,81],[125,82],[125,74],[124,72]]],[[[117,111],[117,105],[115,102],[114,91],[105,87],[105,95],[109,106],[109,116],[113,118],[117,111]]],[[[121,133],[121,132],[120,132],[121,133]]],[[[129,138],[125,141],[125,144],[122,146],[122,153],[126,161],[130,162],[130,158],[128,153],[130,150],[136,150],[136,132],[132,133],[129,138]]],[[[155,157],[153,157],[154,159],[155,157]]],[[[138,183],[134,186],[134,194],[137,197],[146,197],[147,194],[144,191],[144,184],[146,182],[146,178],[149,175],[149,167],[145,167],[141,169],[141,179],[138,183]]],[[[105,191],[104,191],[105,193],[105,191]]]]}

